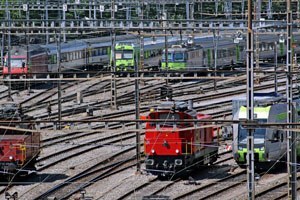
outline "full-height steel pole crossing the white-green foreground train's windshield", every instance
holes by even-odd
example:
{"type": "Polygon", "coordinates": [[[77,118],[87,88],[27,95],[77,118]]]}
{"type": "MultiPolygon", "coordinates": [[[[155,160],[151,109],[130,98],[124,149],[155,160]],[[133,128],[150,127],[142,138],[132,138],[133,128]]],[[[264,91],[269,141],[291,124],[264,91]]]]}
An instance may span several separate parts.
{"type": "MultiPolygon", "coordinates": [[[[247,120],[254,119],[253,94],[253,29],[252,29],[252,0],[248,0],[248,31],[247,31],[247,120]]],[[[248,199],[255,198],[254,185],[254,136],[253,129],[248,129],[247,136],[247,185],[248,199]]]]}

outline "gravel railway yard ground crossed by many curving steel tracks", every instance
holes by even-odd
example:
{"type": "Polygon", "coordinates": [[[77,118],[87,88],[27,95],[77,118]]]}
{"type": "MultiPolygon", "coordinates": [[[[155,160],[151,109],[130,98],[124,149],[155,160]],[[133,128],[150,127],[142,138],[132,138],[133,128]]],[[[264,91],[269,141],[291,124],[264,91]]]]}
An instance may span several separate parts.
{"type": "MultiPolygon", "coordinates": [[[[245,75],[240,73],[234,80],[218,80],[217,90],[214,90],[214,82],[210,80],[175,82],[171,87],[174,100],[193,99],[197,111],[210,114],[214,119],[230,119],[231,99],[245,93],[245,81],[245,75]]],[[[160,88],[164,84],[165,81],[145,81],[140,88],[141,114],[149,112],[161,101],[160,88]]],[[[284,77],[279,77],[279,92],[285,91],[284,85],[284,77]]],[[[227,151],[225,145],[230,145],[230,140],[220,141],[218,160],[194,171],[190,175],[192,180],[160,180],[144,171],[137,173],[135,123],[117,122],[134,119],[134,82],[126,79],[118,81],[118,110],[110,108],[109,87],[108,81],[99,82],[97,79],[63,84],[63,120],[101,118],[116,121],[108,126],[103,122],[89,125],[77,123],[65,125],[62,130],[53,130],[53,124],[45,122],[57,116],[56,87],[32,89],[29,94],[27,90],[13,90],[12,98],[15,103],[23,105],[24,114],[43,121],[39,124],[41,154],[37,159],[37,172],[27,178],[17,178],[7,185],[2,184],[0,198],[5,198],[5,192],[17,192],[20,199],[76,199],[82,195],[94,199],[141,199],[145,195],[164,195],[171,199],[247,198],[246,171],[237,166],[232,152],[227,151]],[[77,102],[78,92],[83,93],[81,103],[77,102]],[[49,103],[52,107],[50,115],[47,113],[49,103]],[[93,107],[93,116],[87,115],[88,106],[93,107]]],[[[273,77],[264,75],[260,76],[255,90],[269,92],[273,87],[273,77]]],[[[7,98],[6,90],[6,86],[1,87],[2,100],[7,98]]],[[[141,132],[141,144],[143,135],[141,132]]],[[[286,176],[284,170],[260,174],[256,182],[256,197],[285,199],[286,176]]]]}

